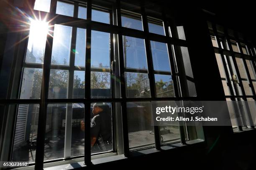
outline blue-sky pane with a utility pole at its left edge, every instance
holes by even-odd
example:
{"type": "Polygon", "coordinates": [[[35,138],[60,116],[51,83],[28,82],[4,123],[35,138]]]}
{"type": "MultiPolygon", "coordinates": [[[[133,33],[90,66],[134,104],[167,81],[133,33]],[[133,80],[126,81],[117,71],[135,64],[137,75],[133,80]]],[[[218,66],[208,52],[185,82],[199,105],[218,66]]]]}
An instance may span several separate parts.
{"type": "Polygon", "coordinates": [[[126,68],[148,69],[143,39],[123,36],[123,57],[126,68]]]}

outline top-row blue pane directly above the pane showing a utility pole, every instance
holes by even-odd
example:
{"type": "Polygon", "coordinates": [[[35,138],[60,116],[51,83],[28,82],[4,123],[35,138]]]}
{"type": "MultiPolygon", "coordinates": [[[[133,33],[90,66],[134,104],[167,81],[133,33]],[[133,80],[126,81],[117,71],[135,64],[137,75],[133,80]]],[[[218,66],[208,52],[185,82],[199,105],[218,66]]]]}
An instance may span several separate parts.
{"type": "Polygon", "coordinates": [[[141,16],[122,14],[122,27],[143,31],[141,16]]]}

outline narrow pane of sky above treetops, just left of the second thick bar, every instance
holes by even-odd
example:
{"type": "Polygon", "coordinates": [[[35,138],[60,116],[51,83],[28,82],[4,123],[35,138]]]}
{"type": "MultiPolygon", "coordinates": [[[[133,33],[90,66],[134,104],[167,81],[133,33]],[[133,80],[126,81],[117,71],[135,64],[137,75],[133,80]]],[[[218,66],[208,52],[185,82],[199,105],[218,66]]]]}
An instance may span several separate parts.
{"type": "Polygon", "coordinates": [[[74,71],[73,98],[84,98],[85,72],[74,71]]]}

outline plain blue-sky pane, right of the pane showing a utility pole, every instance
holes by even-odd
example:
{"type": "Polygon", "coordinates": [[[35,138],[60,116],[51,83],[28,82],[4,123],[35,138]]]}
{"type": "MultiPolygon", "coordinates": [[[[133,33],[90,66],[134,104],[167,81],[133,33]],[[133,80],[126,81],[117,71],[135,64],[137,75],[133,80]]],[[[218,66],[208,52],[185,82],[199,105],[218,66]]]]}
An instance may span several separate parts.
{"type": "Polygon", "coordinates": [[[150,41],[154,70],[171,72],[167,45],[162,42],[150,41]]]}

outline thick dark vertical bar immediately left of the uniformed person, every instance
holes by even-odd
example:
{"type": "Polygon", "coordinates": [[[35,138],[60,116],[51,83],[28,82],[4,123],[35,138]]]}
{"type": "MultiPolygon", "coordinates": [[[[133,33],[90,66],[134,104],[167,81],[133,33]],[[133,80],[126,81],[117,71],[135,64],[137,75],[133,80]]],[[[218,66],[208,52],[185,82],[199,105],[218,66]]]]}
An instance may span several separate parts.
{"type": "MultiPolygon", "coordinates": [[[[92,20],[92,0],[87,0],[87,20],[92,20]]],[[[91,94],[91,23],[86,28],[86,51],[85,51],[85,98],[90,99],[91,94]]],[[[92,165],[91,162],[91,132],[90,119],[91,108],[90,102],[84,103],[84,163],[87,166],[92,165]]]]}

